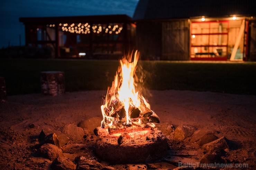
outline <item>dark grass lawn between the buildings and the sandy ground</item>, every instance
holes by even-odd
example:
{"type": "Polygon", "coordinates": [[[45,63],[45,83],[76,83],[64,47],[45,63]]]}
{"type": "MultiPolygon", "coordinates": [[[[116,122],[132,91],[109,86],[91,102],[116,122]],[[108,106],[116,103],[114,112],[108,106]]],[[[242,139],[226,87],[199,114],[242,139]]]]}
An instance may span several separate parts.
{"type": "MultiPolygon", "coordinates": [[[[256,95],[256,63],[141,61],[144,87],[256,95]]],[[[0,59],[8,95],[40,93],[41,71],[65,72],[66,91],[107,90],[118,61],[0,59]]],[[[140,68],[140,67],[138,67],[140,68]]]]}

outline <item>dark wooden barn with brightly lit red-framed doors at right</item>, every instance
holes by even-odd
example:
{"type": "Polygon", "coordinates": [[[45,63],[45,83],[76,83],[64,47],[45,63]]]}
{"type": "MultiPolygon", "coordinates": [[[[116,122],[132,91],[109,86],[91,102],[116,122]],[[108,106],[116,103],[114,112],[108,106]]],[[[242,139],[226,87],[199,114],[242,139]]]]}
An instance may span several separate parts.
{"type": "Polygon", "coordinates": [[[140,0],[136,48],[149,60],[256,61],[255,0],[140,0]]]}

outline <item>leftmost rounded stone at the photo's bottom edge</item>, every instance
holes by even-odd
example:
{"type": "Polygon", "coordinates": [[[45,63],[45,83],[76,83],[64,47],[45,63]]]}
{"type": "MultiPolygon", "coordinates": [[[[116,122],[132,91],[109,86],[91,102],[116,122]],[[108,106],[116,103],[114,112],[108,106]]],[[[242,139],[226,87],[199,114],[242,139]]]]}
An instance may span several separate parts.
{"type": "Polygon", "coordinates": [[[57,157],[51,164],[53,170],[75,170],[75,167],[75,164],[65,157],[57,157]]]}

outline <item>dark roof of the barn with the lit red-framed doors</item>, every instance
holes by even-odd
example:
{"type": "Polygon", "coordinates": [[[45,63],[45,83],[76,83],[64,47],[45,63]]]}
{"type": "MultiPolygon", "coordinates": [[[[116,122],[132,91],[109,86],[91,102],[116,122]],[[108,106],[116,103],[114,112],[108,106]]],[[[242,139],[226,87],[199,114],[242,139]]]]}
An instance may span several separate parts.
{"type": "Polygon", "coordinates": [[[256,16],[256,0],[140,0],[133,20],[256,16]]]}

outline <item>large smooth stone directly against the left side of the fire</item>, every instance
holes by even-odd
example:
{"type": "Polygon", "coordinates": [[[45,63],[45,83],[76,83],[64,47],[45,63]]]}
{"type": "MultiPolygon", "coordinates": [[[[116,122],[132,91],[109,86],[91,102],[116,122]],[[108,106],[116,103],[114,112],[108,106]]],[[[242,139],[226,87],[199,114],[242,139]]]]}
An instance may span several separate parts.
{"type": "Polygon", "coordinates": [[[77,125],[78,127],[88,129],[90,133],[93,133],[93,130],[101,125],[102,117],[93,117],[90,119],[82,120],[77,125]]]}

